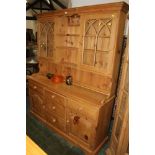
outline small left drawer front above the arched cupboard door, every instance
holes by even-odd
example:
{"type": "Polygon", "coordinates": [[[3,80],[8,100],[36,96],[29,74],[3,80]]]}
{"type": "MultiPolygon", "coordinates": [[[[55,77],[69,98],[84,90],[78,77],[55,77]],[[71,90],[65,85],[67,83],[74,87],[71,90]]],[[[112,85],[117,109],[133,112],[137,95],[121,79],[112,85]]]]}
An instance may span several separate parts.
{"type": "Polygon", "coordinates": [[[29,88],[43,95],[44,89],[43,86],[37,82],[29,80],[29,88]]]}

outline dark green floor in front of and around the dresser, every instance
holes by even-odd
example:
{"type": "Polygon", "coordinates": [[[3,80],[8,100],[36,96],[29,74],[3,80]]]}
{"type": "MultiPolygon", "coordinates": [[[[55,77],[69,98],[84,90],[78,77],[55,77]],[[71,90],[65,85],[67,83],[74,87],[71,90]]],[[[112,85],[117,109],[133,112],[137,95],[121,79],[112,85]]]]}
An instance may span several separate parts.
{"type": "MultiPolygon", "coordinates": [[[[48,155],[84,155],[80,148],[64,140],[30,115],[28,96],[26,100],[26,110],[26,134],[48,155]]],[[[105,144],[98,155],[105,155],[104,151],[107,147],[108,144],[105,144]]]]}

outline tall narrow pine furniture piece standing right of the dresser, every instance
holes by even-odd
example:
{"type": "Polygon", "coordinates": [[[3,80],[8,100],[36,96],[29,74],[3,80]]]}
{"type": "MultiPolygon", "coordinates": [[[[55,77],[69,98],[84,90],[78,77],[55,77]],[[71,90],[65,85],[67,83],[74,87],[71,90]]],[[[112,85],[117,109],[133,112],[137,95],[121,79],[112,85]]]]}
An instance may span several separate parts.
{"type": "Polygon", "coordinates": [[[115,119],[113,123],[110,150],[115,155],[122,155],[129,152],[129,61],[128,42],[123,54],[121,74],[116,98],[115,119]]]}

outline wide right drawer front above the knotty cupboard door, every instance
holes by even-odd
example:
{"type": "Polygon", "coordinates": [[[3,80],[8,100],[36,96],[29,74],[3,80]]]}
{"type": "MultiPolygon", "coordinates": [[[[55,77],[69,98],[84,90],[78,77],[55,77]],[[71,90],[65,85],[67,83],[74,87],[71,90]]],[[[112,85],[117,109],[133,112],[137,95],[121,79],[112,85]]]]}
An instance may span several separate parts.
{"type": "Polygon", "coordinates": [[[71,109],[71,111],[76,111],[77,113],[80,113],[91,120],[97,121],[99,109],[95,106],[80,101],[73,101],[70,99],[68,100],[67,106],[69,109],[71,109]]]}

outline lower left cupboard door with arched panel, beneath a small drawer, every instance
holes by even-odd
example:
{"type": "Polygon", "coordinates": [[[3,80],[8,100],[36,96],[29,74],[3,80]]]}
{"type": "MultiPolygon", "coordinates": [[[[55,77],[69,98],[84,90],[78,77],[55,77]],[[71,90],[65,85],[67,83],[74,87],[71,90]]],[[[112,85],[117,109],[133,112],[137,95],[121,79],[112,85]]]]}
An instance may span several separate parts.
{"type": "Polygon", "coordinates": [[[43,96],[40,93],[30,89],[30,109],[43,119],[45,119],[45,104],[43,96]]]}

